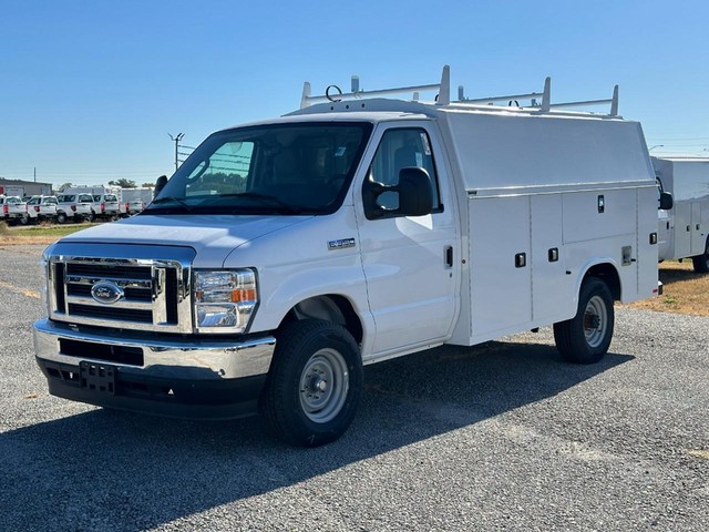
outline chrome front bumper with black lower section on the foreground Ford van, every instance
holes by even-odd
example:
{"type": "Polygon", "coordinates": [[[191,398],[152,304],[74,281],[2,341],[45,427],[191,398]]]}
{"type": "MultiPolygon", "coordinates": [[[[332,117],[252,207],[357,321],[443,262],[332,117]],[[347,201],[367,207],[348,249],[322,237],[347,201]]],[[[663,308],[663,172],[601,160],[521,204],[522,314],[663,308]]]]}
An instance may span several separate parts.
{"type": "Polygon", "coordinates": [[[177,418],[256,413],[276,347],[273,336],[165,336],[42,319],[34,324],[35,358],[50,393],[64,399],[177,418]]]}

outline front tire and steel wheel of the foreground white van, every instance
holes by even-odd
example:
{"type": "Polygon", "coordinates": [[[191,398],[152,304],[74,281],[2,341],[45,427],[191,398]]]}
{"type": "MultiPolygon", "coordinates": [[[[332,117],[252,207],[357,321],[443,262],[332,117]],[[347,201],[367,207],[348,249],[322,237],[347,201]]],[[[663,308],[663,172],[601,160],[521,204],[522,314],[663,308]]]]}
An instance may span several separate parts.
{"type": "Polygon", "coordinates": [[[354,419],[362,380],[359,348],[347,329],[296,321],[277,335],[260,411],[281,440],[322,446],[342,436],[354,419]]]}

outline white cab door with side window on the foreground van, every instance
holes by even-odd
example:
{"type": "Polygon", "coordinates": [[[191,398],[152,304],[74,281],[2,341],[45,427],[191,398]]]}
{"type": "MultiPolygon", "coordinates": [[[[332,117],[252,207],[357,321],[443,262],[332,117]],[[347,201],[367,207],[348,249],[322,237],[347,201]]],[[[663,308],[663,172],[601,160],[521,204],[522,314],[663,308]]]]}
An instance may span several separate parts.
{"type": "MultiPolygon", "coordinates": [[[[458,313],[461,249],[455,206],[442,150],[430,127],[425,122],[382,127],[374,136],[378,147],[364,177],[394,185],[402,167],[417,166],[428,172],[433,193],[433,212],[425,216],[398,215],[395,192],[379,196],[378,205],[386,209],[381,217],[368,219],[364,211],[358,209],[362,265],[376,326],[374,358],[440,342],[450,335],[458,313]]],[[[361,197],[361,190],[358,193],[361,197]]]]}

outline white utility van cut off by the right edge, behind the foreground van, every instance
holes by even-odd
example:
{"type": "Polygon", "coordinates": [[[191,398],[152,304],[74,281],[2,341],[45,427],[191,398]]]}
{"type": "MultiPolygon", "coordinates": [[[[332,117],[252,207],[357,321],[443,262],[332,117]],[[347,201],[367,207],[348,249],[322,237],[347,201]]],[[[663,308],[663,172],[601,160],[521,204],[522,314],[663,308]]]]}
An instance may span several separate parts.
{"type": "Polygon", "coordinates": [[[672,195],[659,211],[660,260],[691,258],[695,272],[709,273],[709,158],[651,157],[657,185],[672,195]]]}

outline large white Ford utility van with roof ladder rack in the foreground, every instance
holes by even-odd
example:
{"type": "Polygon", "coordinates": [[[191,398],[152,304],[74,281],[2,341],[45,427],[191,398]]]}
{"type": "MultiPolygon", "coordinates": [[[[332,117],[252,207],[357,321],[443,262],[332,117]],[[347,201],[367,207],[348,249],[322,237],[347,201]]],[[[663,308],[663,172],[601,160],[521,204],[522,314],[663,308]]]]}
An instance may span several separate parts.
{"type": "Polygon", "coordinates": [[[610,114],[556,109],[548,80],[504,106],[451,102],[449,76],[405,89],[430,103],[306,84],[302,109],[206,139],[143,213],[50,246],[50,392],[260,410],[318,446],[350,424],[362,365],[546,325],[564,359],[599,360],[614,300],[658,293],[640,125],[617,92],[610,114]],[[506,106],[524,96],[541,104],[506,106]]]}

